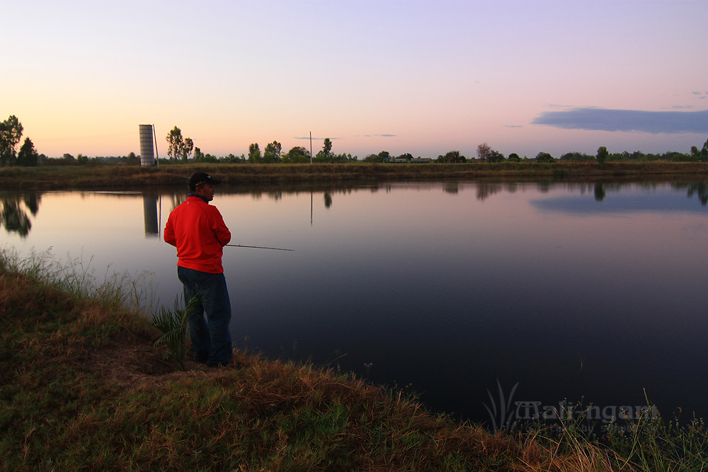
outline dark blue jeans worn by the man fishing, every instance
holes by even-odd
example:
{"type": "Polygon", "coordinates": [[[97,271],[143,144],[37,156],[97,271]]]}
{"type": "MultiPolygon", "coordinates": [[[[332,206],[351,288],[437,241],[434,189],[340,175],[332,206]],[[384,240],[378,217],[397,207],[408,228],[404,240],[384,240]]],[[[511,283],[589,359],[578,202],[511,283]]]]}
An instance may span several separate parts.
{"type": "Polygon", "coordinates": [[[184,285],[185,304],[195,295],[200,305],[188,319],[194,360],[207,365],[228,364],[232,357],[231,301],[224,274],[210,274],[177,266],[177,277],[184,285]],[[206,320],[204,315],[206,314],[206,320]]]}

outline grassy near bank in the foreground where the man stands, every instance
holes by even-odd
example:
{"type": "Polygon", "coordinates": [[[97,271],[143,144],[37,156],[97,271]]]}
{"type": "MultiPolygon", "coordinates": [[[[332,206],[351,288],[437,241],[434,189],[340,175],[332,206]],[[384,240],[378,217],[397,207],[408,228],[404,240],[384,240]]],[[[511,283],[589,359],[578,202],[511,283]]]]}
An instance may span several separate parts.
{"type": "Polygon", "coordinates": [[[308,365],[236,352],[179,371],[130,309],[130,283],[96,286],[45,257],[0,253],[0,469],[204,471],[696,471],[702,424],[655,422],[612,447],[491,434],[414,399],[308,365]]]}

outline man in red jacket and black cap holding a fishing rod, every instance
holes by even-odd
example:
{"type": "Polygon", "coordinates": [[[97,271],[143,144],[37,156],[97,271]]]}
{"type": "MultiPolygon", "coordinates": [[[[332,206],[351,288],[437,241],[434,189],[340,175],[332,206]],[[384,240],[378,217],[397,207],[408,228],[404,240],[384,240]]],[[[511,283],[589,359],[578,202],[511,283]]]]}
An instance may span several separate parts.
{"type": "Polygon", "coordinates": [[[187,200],[173,209],[164,231],[165,242],[177,248],[185,304],[200,297],[200,305],[189,315],[188,330],[194,360],[210,367],[229,364],[232,358],[231,301],[222,267],[231,231],[217,207],[209,205],[217,183],[203,172],[192,175],[187,200]]]}

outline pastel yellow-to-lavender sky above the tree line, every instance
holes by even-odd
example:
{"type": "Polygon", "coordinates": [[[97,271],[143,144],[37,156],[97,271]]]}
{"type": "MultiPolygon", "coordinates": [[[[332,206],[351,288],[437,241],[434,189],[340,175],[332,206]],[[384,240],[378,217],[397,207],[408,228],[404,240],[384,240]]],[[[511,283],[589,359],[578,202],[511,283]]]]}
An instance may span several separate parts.
{"type": "Polygon", "coordinates": [[[706,0],[0,0],[0,120],[47,156],[689,152],[706,0]]]}

